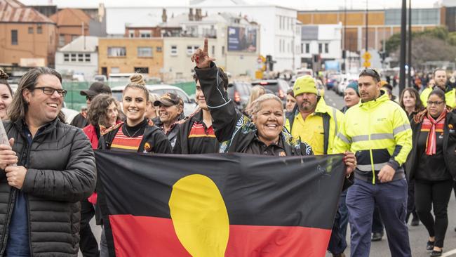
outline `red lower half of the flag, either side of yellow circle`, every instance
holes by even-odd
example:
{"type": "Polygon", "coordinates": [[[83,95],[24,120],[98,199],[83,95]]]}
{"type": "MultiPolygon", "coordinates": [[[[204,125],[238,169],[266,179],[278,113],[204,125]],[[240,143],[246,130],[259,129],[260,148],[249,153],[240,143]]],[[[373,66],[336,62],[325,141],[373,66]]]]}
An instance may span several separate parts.
{"type": "MultiPolygon", "coordinates": [[[[170,218],[111,215],[109,221],[116,257],[190,256],[170,218]]],[[[230,225],[225,256],[325,256],[330,235],[320,228],[230,225]]]]}

